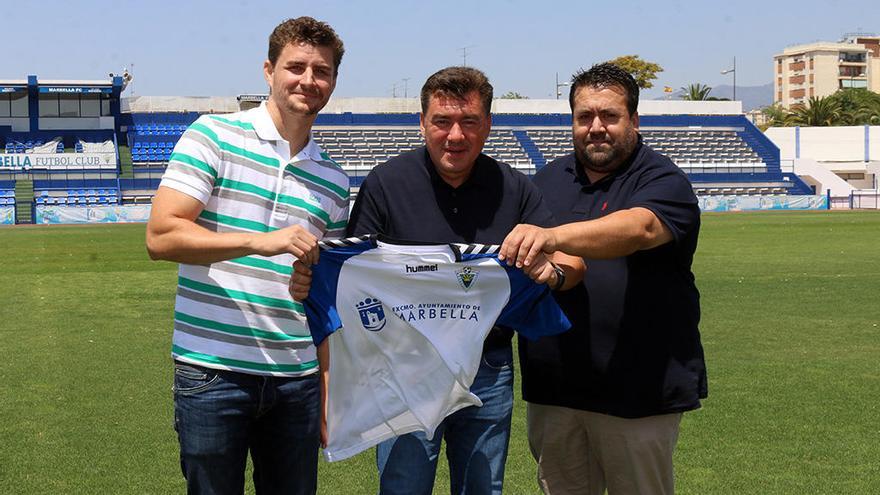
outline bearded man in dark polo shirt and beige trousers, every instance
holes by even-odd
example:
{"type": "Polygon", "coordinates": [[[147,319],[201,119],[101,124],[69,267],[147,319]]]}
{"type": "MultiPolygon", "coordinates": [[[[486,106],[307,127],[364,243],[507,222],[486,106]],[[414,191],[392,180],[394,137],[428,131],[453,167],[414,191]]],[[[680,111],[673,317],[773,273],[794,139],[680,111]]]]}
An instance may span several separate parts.
{"type": "Polygon", "coordinates": [[[572,330],[520,342],[548,494],[672,493],[681,414],[707,393],[691,272],[700,210],[681,169],[642,143],[638,97],[614,65],[575,76],[575,152],[535,176],[561,225],[520,225],[501,250],[517,265],[563,251],[588,266],[582,287],[556,294],[572,330]]]}

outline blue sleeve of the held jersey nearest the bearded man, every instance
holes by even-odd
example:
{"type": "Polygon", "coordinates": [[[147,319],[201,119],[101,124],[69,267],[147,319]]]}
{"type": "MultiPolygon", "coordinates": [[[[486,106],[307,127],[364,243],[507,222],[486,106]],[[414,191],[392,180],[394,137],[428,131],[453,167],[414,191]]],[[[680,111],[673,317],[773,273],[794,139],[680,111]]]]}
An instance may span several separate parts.
{"type": "Polygon", "coordinates": [[[510,300],[498,316],[499,324],[513,328],[529,340],[571,328],[549,287],[535,283],[519,268],[498,263],[507,271],[510,281],[510,300]]]}

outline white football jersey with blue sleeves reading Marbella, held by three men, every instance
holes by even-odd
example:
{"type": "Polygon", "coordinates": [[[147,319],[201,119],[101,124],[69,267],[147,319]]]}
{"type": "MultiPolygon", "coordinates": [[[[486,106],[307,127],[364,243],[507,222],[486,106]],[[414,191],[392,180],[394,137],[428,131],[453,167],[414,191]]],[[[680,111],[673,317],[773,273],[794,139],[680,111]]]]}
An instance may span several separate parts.
{"type": "Polygon", "coordinates": [[[497,246],[325,241],[305,301],[330,339],[329,461],[412,431],[432,437],[470,393],[495,325],[527,338],[570,327],[549,289],[498,261],[497,246]]]}

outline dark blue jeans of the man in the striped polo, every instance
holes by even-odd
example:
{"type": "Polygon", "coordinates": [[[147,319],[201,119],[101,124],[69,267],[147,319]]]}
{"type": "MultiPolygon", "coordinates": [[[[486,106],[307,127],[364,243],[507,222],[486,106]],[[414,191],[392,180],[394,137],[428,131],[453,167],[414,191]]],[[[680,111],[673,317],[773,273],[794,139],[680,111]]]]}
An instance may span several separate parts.
{"type": "Polygon", "coordinates": [[[190,494],[242,494],[248,450],[256,493],[314,494],[317,375],[277,378],[174,363],[174,429],[190,494]]]}

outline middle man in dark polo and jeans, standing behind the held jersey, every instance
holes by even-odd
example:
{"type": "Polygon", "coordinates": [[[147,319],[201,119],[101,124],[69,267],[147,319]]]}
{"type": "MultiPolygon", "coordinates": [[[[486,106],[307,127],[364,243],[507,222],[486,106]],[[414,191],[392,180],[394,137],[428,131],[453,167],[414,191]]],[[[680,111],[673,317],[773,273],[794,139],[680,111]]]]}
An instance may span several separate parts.
{"type": "MultiPolygon", "coordinates": [[[[370,172],[352,208],[347,235],[500,244],[517,224],[553,225],[528,177],[482,154],[492,105],[492,85],[482,72],[468,67],[438,71],[422,87],[421,103],[425,146],[370,172]]],[[[554,289],[578,284],[583,276],[579,258],[558,253],[552,261],[557,265],[542,255],[526,271],[554,289]],[[565,275],[560,277],[558,269],[565,275]]],[[[300,265],[296,273],[291,292],[302,299],[311,279],[303,278],[309,271],[300,265]]],[[[495,327],[486,338],[470,389],[482,407],[449,415],[432,440],[418,432],[379,444],[380,493],[429,495],[444,438],[452,493],[501,493],[513,408],[512,333],[495,327]]]]}

